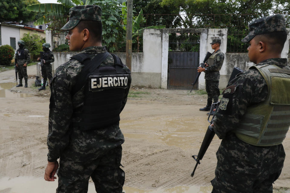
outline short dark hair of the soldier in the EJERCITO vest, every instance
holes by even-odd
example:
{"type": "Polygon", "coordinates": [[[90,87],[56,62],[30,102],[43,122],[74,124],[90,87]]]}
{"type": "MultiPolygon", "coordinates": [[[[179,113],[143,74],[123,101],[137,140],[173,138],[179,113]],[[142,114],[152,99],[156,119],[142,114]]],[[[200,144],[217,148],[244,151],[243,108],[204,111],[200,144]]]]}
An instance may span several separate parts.
{"type": "Polygon", "coordinates": [[[84,29],[88,29],[90,35],[97,42],[102,41],[102,22],[100,21],[92,21],[92,20],[81,20],[76,26],[81,32],[84,29]]]}

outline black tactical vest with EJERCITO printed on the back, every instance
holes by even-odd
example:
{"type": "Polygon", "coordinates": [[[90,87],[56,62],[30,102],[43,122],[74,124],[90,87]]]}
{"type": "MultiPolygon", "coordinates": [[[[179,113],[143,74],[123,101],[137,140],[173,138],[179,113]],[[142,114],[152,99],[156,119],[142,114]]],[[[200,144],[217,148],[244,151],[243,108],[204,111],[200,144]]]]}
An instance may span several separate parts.
{"type": "Polygon", "coordinates": [[[72,88],[72,95],[85,85],[84,106],[78,115],[74,115],[74,117],[81,117],[78,123],[80,130],[96,130],[118,123],[125,89],[130,78],[123,69],[121,59],[111,54],[115,65],[99,66],[108,57],[108,52],[98,54],[92,60],[89,60],[86,54],[78,55],[82,57],[76,55],[72,59],[77,59],[85,67],[72,88]],[[103,59],[98,59],[100,57],[103,59]]]}

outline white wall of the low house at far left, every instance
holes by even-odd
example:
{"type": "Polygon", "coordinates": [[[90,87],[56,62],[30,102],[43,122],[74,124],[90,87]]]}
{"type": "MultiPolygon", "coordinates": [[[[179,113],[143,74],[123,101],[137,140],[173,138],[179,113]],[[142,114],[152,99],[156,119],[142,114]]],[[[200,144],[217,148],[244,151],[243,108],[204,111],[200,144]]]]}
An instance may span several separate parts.
{"type": "MultiPolygon", "coordinates": [[[[16,50],[19,48],[17,42],[20,40],[20,32],[18,27],[10,27],[1,25],[1,43],[2,45],[10,45],[10,37],[15,38],[16,50]]],[[[11,46],[11,45],[10,45],[11,46]]]]}

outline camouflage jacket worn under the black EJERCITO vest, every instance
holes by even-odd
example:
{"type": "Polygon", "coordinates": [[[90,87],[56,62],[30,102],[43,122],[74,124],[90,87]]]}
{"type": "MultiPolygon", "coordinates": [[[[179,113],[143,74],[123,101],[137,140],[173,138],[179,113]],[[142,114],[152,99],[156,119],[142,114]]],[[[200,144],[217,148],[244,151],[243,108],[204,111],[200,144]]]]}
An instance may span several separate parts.
{"type": "MultiPolygon", "coordinates": [[[[92,58],[98,53],[107,52],[103,46],[87,47],[81,53],[87,53],[92,58]]],[[[112,55],[109,55],[101,65],[114,65],[112,55]]],[[[51,80],[51,96],[49,111],[49,129],[47,135],[48,161],[56,161],[58,157],[65,157],[74,161],[87,161],[98,158],[124,143],[124,136],[119,128],[119,122],[106,128],[98,130],[80,131],[76,124],[84,105],[84,87],[71,94],[72,87],[76,84],[77,76],[84,67],[77,60],[70,60],[56,69],[51,80]]],[[[124,69],[124,68],[123,68],[124,69]]],[[[125,67],[130,77],[130,71],[125,67]]],[[[128,78],[128,79],[129,79],[128,78]]],[[[125,91],[121,110],[127,102],[127,95],[130,89],[125,91]]],[[[101,93],[100,93],[101,94],[101,93]]],[[[96,101],[97,102],[97,101],[96,101]]]]}

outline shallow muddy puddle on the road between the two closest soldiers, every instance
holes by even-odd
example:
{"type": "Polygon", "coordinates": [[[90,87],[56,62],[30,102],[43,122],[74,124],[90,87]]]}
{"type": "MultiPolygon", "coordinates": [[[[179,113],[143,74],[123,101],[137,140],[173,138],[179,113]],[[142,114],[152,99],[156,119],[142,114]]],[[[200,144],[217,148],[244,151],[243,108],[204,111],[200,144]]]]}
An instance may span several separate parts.
{"type": "MultiPolygon", "coordinates": [[[[163,116],[141,118],[138,120],[121,119],[120,124],[121,129],[126,128],[144,131],[141,133],[124,132],[125,138],[143,139],[149,141],[161,140],[169,146],[188,149],[188,144],[192,143],[191,136],[195,133],[204,135],[209,123],[206,119],[204,119],[204,117],[201,119],[200,117],[172,118],[172,116],[163,116]],[[201,122],[201,120],[204,121],[201,122]]],[[[203,139],[203,136],[201,136],[201,139],[203,139]]]]}

